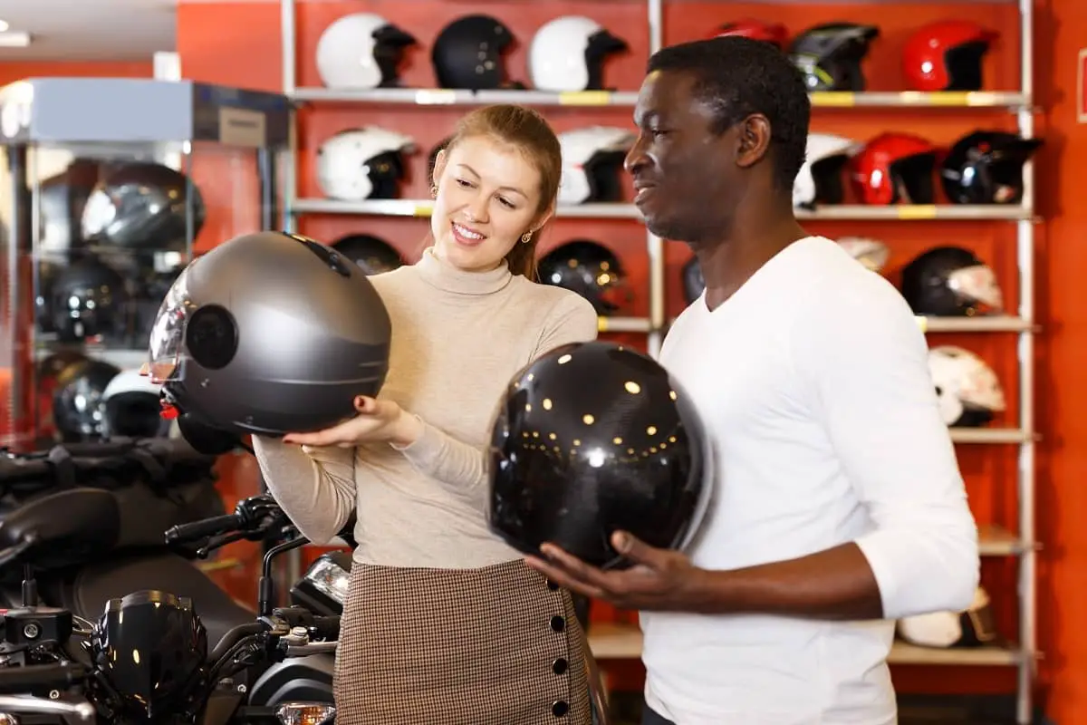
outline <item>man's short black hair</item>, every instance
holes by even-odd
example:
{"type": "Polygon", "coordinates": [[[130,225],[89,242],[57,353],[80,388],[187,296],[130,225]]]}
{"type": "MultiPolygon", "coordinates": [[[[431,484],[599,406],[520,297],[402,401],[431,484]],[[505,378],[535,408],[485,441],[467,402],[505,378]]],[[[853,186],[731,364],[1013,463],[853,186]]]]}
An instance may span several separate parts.
{"type": "Polygon", "coordinates": [[[695,93],[714,109],[713,133],[751,115],[770,121],[774,179],[790,191],[804,163],[811,100],[800,71],[773,45],[740,36],[667,46],[652,54],[647,73],[694,76],[695,93]]]}

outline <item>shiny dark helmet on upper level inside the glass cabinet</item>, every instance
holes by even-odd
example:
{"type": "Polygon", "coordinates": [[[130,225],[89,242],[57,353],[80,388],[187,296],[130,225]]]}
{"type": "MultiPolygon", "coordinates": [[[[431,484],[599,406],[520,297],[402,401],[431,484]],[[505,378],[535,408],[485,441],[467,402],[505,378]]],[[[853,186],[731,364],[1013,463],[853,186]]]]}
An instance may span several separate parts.
{"type": "Polygon", "coordinates": [[[95,246],[140,251],[185,251],[188,199],[192,237],[204,223],[200,189],[179,171],[160,163],[125,163],[108,172],[83,209],[83,236],[95,246]]]}

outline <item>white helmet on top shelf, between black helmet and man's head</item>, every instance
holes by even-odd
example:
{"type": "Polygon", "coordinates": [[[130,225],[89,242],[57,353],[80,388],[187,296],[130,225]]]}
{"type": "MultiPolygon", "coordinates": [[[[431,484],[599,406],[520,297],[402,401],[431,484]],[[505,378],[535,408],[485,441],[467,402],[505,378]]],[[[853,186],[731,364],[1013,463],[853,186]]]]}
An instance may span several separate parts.
{"type": "Polygon", "coordinates": [[[625,40],[582,15],[545,23],[528,47],[528,77],[537,90],[603,90],[604,59],[627,49],[625,40]]]}

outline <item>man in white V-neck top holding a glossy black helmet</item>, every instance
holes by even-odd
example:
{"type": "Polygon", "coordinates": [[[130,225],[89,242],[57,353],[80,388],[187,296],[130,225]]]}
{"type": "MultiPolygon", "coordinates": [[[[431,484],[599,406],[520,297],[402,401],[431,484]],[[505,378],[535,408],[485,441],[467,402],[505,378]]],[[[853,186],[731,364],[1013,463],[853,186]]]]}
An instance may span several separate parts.
{"type": "Polygon", "coordinates": [[[628,570],[549,545],[528,564],[641,611],[645,725],[892,724],[894,620],[977,586],[924,336],[794,217],[810,110],[789,61],[739,37],[661,50],[638,97],[636,203],[705,280],[661,361],[703,417],[713,500],[685,552],[619,532],[628,570]]]}

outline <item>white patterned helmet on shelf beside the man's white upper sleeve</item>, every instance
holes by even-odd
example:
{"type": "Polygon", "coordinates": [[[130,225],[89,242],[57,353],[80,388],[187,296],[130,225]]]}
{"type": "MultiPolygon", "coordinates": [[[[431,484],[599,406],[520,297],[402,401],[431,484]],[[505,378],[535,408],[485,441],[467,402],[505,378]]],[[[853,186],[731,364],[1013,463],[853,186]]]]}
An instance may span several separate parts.
{"type": "Polygon", "coordinates": [[[928,351],[940,416],[949,426],[976,428],[1007,408],[997,374],[979,357],[953,345],[928,351]]]}

